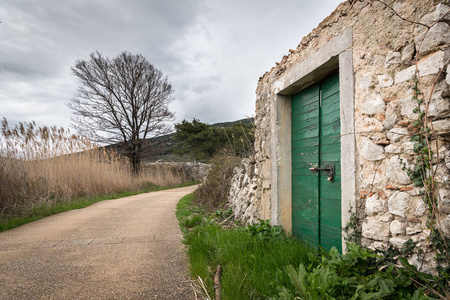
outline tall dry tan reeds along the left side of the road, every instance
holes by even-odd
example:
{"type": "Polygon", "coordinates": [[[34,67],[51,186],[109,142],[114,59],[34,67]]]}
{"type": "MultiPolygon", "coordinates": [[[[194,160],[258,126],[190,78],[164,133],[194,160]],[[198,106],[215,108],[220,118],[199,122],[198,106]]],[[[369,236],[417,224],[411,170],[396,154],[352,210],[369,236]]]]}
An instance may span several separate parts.
{"type": "Polygon", "coordinates": [[[0,139],[0,218],[27,214],[36,206],[183,183],[177,174],[142,172],[90,140],[34,122],[10,128],[2,121],[0,139]]]}

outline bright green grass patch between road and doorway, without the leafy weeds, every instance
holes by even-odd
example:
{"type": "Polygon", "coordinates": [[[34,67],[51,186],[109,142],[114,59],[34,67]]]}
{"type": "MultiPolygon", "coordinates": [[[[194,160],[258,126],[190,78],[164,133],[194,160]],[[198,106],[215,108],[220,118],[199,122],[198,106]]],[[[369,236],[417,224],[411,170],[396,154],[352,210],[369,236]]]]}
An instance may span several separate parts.
{"type": "Polygon", "coordinates": [[[313,247],[295,238],[271,235],[271,231],[258,235],[248,227],[224,229],[195,207],[193,200],[193,195],[181,199],[177,217],[185,233],[191,276],[202,279],[210,296],[214,295],[214,275],[219,264],[223,268],[223,299],[267,299],[278,295],[282,286],[294,289],[285,266],[309,265],[308,253],[316,253],[313,247]],[[202,222],[186,227],[196,216],[201,216],[202,222]]]}

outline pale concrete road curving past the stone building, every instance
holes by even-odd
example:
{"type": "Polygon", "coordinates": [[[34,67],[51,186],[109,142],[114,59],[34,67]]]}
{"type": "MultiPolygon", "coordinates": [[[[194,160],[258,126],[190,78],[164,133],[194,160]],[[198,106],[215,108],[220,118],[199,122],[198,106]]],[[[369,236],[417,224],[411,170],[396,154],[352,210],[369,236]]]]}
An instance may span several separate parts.
{"type": "Polygon", "coordinates": [[[0,233],[0,299],[193,299],[175,207],[195,188],[106,200],[0,233]]]}

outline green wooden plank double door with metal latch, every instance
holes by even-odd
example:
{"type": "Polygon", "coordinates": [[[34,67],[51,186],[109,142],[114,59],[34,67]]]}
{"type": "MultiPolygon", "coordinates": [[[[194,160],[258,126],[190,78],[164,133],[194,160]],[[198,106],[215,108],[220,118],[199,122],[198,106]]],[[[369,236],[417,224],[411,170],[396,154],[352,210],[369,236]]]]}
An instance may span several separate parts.
{"type": "Polygon", "coordinates": [[[293,95],[291,105],[292,233],[342,251],[339,74],[293,95]],[[325,170],[310,171],[328,164],[331,181],[325,170]]]}

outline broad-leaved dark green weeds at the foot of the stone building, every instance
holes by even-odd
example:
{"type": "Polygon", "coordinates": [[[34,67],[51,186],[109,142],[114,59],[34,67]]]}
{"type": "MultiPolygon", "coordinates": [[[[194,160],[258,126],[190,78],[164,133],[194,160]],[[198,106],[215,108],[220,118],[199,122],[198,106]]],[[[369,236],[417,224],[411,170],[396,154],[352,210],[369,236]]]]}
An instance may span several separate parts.
{"type": "Polygon", "coordinates": [[[399,257],[401,266],[386,264],[383,256],[370,249],[357,244],[347,247],[346,254],[332,248],[310,255],[312,263],[301,263],[298,270],[288,265],[291,285],[282,287],[278,297],[271,299],[445,299],[439,295],[445,291],[439,278],[418,272],[404,257],[399,257]]]}

